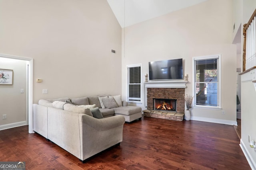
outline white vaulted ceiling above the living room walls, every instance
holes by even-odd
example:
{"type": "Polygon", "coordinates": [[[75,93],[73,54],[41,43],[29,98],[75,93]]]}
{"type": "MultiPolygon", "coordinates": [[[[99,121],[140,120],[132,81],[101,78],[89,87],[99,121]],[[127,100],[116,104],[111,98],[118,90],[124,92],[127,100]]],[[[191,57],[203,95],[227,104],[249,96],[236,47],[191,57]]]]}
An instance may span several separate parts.
{"type": "Polygon", "coordinates": [[[107,0],[121,27],[146,21],[206,0],[107,0]]]}

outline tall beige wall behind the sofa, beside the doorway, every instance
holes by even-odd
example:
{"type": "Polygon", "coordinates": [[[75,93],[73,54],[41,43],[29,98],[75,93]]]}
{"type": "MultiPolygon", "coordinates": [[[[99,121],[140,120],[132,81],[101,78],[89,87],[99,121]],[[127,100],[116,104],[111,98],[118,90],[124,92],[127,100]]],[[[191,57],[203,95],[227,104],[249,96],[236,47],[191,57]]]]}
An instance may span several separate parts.
{"type": "Polygon", "coordinates": [[[34,103],[121,94],[121,27],[106,0],[1,0],[0,23],[0,54],[34,59],[34,103]]]}

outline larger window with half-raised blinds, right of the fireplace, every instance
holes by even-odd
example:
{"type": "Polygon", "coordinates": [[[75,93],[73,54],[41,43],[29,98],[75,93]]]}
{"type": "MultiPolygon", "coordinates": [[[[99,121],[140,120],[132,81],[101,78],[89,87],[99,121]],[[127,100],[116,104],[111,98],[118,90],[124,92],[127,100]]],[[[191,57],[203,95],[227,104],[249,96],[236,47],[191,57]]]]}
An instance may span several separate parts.
{"type": "Polygon", "coordinates": [[[220,55],[194,58],[194,106],[220,108],[220,55]]]}

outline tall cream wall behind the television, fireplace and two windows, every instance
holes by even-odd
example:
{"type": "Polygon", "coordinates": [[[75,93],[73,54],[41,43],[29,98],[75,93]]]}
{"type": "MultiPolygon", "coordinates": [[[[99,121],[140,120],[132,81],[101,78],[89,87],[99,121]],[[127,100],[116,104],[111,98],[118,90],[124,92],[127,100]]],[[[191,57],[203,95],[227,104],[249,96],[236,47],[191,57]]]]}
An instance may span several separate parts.
{"type": "MultiPolygon", "coordinates": [[[[222,115],[221,110],[192,109],[192,116],[205,121],[236,123],[236,47],[232,45],[232,0],[208,0],[126,27],[122,31],[125,51],[122,55],[124,99],[126,65],[142,64],[144,75],[148,73],[150,61],[182,58],[183,71],[188,74],[189,81],[185,92],[192,94],[192,58],[221,54],[222,108],[226,114],[222,115]]],[[[144,101],[144,88],[142,92],[144,101]]],[[[144,102],[137,105],[146,109],[144,102]]]]}

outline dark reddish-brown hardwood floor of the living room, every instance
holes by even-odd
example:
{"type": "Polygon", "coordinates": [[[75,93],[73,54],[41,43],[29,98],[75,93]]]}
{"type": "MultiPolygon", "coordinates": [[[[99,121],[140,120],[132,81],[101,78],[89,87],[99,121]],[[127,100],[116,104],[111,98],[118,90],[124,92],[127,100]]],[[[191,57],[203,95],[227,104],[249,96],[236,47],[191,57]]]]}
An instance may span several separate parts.
{"type": "Polygon", "coordinates": [[[124,124],[123,142],[82,163],[28,126],[0,131],[0,161],[28,170],[250,170],[234,127],[142,117],[124,124]]]}

